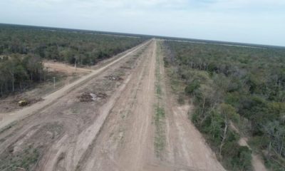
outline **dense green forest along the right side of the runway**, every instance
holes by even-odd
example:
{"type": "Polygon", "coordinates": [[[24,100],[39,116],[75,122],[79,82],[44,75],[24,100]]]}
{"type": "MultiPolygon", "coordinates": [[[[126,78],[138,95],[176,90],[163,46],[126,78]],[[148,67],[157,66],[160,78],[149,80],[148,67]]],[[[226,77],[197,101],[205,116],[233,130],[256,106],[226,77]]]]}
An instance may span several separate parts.
{"type": "Polygon", "coordinates": [[[270,170],[285,170],[285,48],[165,46],[165,65],[195,105],[190,119],[224,166],[252,170],[254,152],[270,170]],[[248,138],[250,148],[239,145],[240,138],[248,138]]]}

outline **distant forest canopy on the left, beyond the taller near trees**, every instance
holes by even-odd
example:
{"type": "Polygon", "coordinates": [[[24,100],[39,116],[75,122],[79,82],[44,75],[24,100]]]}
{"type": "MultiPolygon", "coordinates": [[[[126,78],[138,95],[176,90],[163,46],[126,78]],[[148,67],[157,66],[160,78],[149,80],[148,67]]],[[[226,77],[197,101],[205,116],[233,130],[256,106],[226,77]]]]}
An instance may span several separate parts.
{"type": "Polygon", "coordinates": [[[0,25],[0,55],[28,54],[45,59],[94,65],[144,38],[0,25]]]}

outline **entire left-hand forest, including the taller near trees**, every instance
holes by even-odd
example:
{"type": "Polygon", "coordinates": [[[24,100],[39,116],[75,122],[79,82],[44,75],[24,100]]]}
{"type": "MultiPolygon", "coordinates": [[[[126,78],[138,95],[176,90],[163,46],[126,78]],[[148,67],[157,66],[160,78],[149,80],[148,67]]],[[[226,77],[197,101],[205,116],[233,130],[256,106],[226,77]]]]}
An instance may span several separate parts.
{"type": "Polygon", "coordinates": [[[145,38],[92,31],[0,25],[0,96],[45,80],[43,59],[94,65],[145,38]]]}

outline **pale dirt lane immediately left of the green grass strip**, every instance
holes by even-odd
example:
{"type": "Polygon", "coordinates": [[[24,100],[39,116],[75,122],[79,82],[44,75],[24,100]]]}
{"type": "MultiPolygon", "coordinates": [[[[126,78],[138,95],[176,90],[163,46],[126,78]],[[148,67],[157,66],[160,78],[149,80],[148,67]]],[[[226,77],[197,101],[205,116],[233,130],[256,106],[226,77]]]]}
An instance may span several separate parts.
{"type": "Polygon", "coordinates": [[[82,170],[142,170],[152,156],[155,42],[110,112],[82,170]]]}

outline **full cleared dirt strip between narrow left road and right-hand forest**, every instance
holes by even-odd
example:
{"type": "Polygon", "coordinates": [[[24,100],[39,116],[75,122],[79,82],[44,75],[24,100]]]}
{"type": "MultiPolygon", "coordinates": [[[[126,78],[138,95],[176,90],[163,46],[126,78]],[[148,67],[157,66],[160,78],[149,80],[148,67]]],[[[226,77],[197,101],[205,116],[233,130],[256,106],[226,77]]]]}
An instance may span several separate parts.
{"type": "Polygon", "coordinates": [[[33,159],[24,160],[28,170],[224,170],[187,119],[190,106],[172,100],[157,41],[112,63],[0,133],[0,170],[15,167],[21,156],[33,159]],[[162,76],[160,97],[157,74],[162,76]],[[91,93],[105,93],[106,98],[78,98],[91,93]],[[157,103],[165,109],[165,143],[159,150],[157,103]]]}

